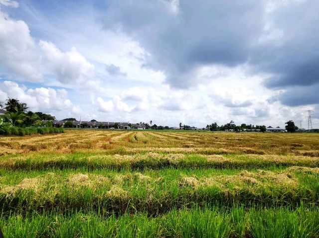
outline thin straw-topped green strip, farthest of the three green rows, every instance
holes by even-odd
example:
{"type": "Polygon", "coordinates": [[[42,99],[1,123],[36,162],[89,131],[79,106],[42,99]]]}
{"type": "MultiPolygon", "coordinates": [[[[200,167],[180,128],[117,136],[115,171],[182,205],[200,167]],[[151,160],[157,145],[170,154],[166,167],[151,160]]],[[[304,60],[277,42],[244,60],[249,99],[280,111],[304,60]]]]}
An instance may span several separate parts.
{"type": "Polygon", "coordinates": [[[0,168],[7,170],[45,169],[164,169],[164,168],[268,168],[272,166],[319,167],[318,157],[278,155],[193,155],[146,153],[137,155],[34,155],[6,156],[0,168]]]}

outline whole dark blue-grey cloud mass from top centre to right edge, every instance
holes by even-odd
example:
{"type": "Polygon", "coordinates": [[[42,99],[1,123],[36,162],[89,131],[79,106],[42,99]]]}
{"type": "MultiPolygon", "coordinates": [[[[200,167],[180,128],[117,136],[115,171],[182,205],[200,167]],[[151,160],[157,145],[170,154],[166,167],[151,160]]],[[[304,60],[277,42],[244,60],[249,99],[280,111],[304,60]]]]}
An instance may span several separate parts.
{"type": "Polygon", "coordinates": [[[298,86],[319,82],[319,1],[273,1],[273,11],[267,3],[181,0],[173,12],[170,1],[114,0],[104,27],[138,40],[151,53],[148,66],[162,70],[172,87],[198,84],[191,74],[197,66],[246,63],[252,73],[273,75],[266,87],[286,89],[282,103],[318,103],[313,94],[303,99],[298,86]]]}

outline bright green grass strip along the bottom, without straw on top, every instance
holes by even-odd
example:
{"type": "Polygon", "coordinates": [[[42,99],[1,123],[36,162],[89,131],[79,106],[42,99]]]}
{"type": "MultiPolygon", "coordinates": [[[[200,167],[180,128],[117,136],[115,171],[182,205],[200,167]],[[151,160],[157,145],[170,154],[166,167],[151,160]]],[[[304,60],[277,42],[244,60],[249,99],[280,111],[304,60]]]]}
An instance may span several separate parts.
{"type": "Polygon", "coordinates": [[[316,238],[319,210],[206,207],[172,210],[156,218],[145,213],[119,217],[94,212],[33,213],[2,217],[0,226],[6,238],[316,238]]]}

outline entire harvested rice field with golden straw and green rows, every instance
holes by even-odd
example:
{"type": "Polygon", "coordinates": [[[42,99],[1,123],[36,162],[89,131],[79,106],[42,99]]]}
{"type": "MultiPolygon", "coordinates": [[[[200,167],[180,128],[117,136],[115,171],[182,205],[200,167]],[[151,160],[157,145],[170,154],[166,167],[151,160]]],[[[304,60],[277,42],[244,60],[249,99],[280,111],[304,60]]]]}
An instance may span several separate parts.
{"type": "Polygon", "coordinates": [[[317,238],[319,135],[0,137],[5,238],[317,238]]]}

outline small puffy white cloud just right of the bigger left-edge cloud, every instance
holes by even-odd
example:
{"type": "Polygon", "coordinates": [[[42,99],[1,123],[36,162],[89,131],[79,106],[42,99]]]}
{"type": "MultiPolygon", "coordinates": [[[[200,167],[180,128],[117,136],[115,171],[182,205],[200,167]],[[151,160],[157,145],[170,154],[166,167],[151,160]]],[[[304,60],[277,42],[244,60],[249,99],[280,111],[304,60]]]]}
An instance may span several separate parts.
{"type": "Polygon", "coordinates": [[[89,63],[76,48],[62,52],[53,43],[40,40],[41,47],[48,67],[57,79],[64,83],[84,82],[94,74],[94,65],[89,63]]]}

